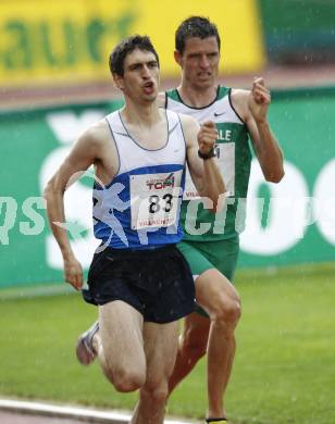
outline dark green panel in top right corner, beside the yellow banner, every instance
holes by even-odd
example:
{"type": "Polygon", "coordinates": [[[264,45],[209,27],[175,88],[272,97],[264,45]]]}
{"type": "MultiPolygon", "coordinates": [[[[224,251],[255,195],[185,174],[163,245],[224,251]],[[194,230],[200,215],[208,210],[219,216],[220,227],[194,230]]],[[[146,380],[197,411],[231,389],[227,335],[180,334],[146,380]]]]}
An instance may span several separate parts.
{"type": "Polygon", "coordinates": [[[334,63],[334,0],[259,0],[259,9],[272,64],[334,63]]]}

